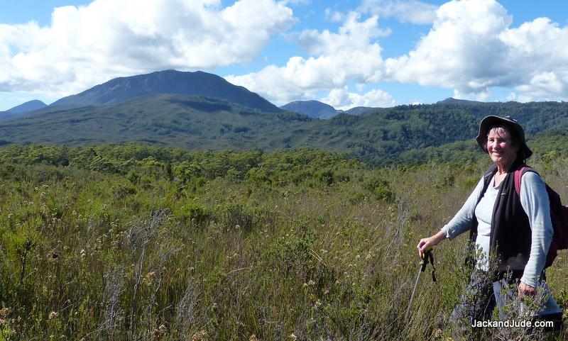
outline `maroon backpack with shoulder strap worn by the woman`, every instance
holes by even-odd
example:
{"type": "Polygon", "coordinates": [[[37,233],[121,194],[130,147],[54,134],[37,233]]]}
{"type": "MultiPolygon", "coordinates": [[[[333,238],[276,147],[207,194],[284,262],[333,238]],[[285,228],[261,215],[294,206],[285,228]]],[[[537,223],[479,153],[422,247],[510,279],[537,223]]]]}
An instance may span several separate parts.
{"type": "MultiPolygon", "coordinates": [[[[523,177],[525,172],[535,172],[535,170],[528,166],[515,170],[515,191],[519,196],[520,178],[523,177]]],[[[546,191],[550,201],[550,220],[552,220],[554,235],[552,235],[552,242],[550,242],[548,254],[546,255],[545,268],[552,265],[558,250],[568,249],[568,207],[562,206],[559,194],[554,189],[551,189],[550,186],[546,185],[546,191]]]]}

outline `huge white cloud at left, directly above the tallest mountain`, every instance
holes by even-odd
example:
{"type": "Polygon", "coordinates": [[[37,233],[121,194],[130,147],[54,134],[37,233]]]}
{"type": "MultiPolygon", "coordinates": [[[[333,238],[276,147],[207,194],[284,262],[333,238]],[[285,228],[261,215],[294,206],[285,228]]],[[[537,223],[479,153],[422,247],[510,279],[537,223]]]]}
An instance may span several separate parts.
{"type": "Polygon", "coordinates": [[[249,62],[293,22],[292,10],[273,0],[227,7],[220,0],[94,0],[59,7],[50,26],[0,24],[0,91],[61,96],[117,76],[249,62]]]}

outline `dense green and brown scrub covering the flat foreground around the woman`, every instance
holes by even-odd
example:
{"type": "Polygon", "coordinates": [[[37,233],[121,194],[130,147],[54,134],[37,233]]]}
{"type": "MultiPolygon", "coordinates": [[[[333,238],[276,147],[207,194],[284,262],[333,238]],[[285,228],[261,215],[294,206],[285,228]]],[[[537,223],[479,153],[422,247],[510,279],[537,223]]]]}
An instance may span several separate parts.
{"type": "MultiPolygon", "coordinates": [[[[532,166],[568,201],[562,153],[532,166]]],[[[0,150],[0,340],[447,340],[466,236],[420,237],[488,167],[368,169],[318,150],[0,150]]],[[[547,273],[568,306],[561,252],[547,273]]],[[[549,335],[562,340],[564,334],[549,335]]]]}

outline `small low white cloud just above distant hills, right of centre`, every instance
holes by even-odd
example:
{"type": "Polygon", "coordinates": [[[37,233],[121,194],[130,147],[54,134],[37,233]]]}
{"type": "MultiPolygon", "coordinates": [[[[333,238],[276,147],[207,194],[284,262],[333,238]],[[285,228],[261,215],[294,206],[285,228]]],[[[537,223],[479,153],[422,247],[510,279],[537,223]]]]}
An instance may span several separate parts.
{"type": "Polygon", "coordinates": [[[347,86],[332,89],[329,94],[322,99],[322,102],[333,106],[336,109],[349,110],[356,106],[390,107],[397,103],[393,96],[380,89],[373,89],[366,94],[356,94],[349,92],[347,86]]]}

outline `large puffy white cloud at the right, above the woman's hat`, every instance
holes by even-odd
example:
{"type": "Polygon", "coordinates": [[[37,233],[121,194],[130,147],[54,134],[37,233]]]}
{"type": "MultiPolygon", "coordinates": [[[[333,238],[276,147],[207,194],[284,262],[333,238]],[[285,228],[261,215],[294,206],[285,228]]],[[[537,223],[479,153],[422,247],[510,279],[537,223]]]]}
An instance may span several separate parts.
{"type": "Polygon", "coordinates": [[[512,21],[493,0],[444,4],[415,50],[386,60],[386,79],[451,88],[461,99],[488,99],[493,86],[514,88],[523,101],[568,98],[568,28],[512,21]]]}

